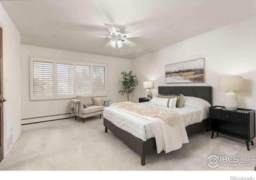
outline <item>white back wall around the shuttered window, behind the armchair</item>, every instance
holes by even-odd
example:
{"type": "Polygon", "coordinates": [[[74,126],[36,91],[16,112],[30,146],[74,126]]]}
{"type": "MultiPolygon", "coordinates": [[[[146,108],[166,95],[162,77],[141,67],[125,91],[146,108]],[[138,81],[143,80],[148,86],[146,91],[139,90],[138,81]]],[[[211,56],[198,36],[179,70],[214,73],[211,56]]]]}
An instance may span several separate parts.
{"type": "MultiPolygon", "coordinates": [[[[30,78],[29,78],[29,56],[40,56],[46,58],[57,58],[65,60],[78,60],[86,62],[97,62],[107,64],[107,93],[108,96],[102,99],[110,99],[110,102],[119,102],[126,100],[126,96],[118,94],[121,88],[119,80],[122,79],[120,72],[131,70],[131,60],[124,58],[114,58],[109,56],[99,56],[65,50],[56,50],[42,48],[38,46],[21,45],[21,92],[22,92],[22,119],[35,118],[42,116],[52,116],[57,114],[70,113],[70,99],[59,100],[36,100],[30,101],[30,78]]],[[[47,118],[38,118],[38,120],[53,120],[61,116],[47,118]]],[[[65,116],[66,117],[66,116],[65,116]]],[[[22,120],[22,123],[30,120],[22,120]]],[[[32,121],[32,120],[31,120],[32,121]]]]}

